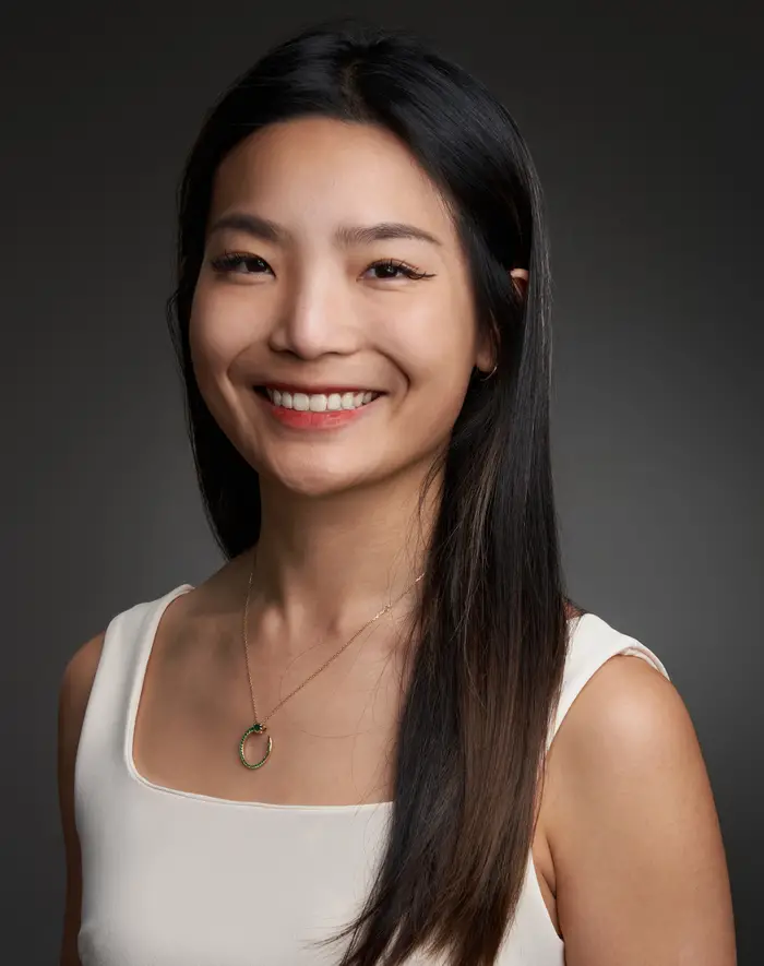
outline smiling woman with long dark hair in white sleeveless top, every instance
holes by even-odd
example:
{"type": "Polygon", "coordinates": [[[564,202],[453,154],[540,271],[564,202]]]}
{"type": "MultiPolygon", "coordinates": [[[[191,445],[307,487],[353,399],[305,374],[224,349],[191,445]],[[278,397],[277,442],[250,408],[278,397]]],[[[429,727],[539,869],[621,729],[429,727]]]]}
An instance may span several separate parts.
{"type": "Polygon", "coordinates": [[[227,562],[67,668],[61,963],[730,966],[684,705],[564,595],[505,109],[407,36],[309,31],[207,117],[178,273],[227,562]]]}

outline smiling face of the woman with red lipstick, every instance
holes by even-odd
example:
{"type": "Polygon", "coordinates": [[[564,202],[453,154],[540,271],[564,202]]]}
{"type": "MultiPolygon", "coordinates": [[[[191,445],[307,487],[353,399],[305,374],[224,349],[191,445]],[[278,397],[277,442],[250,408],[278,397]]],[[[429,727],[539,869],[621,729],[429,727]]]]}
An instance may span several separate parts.
{"type": "Polygon", "coordinates": [[[190,339],[223,431],[306,496],[428,467],[492,366],[433,183],[392,134],[325,118],[222,163],[190,339]]]}

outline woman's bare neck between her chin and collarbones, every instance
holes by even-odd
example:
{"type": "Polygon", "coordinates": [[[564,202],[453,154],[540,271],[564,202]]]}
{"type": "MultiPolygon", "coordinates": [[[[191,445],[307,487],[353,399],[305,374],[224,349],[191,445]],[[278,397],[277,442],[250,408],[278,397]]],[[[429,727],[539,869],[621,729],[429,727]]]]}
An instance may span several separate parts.
{"type": "Polygon", "coordinates": [[[421,505],[420,485],[421,474],[409,475],[312,498],[261,479],[252,601],[296,633],[333,635],[407,596],[423,571],[435,511],[437,484],[421,505]]]}

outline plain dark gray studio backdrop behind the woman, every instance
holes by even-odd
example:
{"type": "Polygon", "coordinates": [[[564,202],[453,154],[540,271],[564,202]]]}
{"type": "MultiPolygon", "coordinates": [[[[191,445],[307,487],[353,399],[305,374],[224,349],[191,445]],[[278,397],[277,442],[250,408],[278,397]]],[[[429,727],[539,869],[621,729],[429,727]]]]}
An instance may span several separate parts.
{"type": "MultiPolygon", "coordinates": [[[[219,563],[163,314],[176,179],[224,85],[306,16],[348,11],[65,7],[5,7],[0,23],[0,934],[25,964],[58,954],[64,664],[119,610],[219,563]]],[[[350,5],[428,31],[534,153],[570,588],[653,647],[690,708],[743,964],[757,959],[764,811],[764,24],[749,7],[350,5]]]]}

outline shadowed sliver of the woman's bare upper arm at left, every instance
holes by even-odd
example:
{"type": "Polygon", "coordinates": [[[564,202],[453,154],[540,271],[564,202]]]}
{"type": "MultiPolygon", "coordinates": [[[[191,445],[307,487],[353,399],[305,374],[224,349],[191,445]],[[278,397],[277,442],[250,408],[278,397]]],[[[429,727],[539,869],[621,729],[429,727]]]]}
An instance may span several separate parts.
{"type": "Polygon", "coordinates": [[[77,933],[82,906],[82,862],[74,823],[74,763],[82,723],[104,643],[98,634],[70,658],[58,696],[58,792],[67,860],[67,897],[60,966],[80,966],[77,933]]]}

